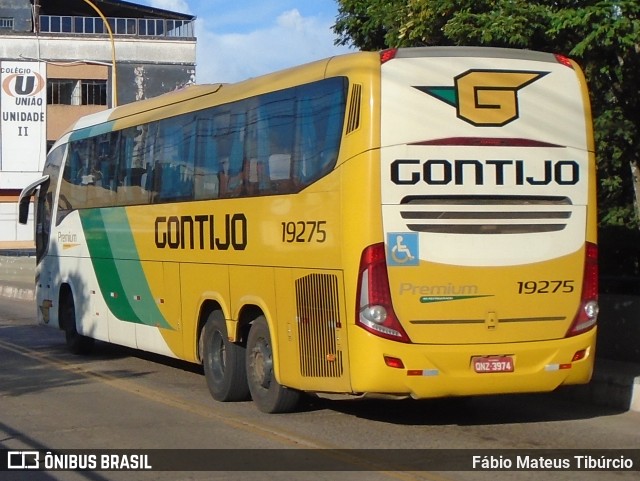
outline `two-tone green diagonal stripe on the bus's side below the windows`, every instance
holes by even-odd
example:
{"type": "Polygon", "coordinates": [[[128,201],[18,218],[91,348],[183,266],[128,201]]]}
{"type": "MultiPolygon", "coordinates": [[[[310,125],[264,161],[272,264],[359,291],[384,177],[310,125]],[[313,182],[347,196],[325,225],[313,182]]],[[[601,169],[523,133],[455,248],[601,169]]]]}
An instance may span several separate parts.
{"type": "Polygon", "coordinates": [[[124,208],[83,210],[80,219],[111,313],[121,321],[172,329],[151,293],[124,208]]]}

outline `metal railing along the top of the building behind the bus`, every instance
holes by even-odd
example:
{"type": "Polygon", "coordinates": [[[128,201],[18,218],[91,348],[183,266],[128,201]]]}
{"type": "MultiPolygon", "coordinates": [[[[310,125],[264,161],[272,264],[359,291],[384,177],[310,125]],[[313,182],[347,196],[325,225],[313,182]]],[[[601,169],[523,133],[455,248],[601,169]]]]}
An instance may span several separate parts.
{"type": "MultiPolygon", "coordinates": [[[[40,33],[66,33],[80,35],[107,34],[100,17],[73,17],[40,15],[40,33]]],[[[114,36],[193,38],[192,20],[158,18],[107,18],[114,36]]]]}

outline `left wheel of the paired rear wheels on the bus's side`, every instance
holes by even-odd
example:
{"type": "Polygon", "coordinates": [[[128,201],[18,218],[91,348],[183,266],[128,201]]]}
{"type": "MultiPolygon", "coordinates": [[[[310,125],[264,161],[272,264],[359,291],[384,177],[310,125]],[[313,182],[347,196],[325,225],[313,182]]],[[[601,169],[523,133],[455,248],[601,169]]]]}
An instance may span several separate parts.
{"type": "Polygon", "coordinates": [[[202,364],[216,401],[248,401],[244,347],[229,341],[222,311],[213,311],[202,333],[202,364]]]}

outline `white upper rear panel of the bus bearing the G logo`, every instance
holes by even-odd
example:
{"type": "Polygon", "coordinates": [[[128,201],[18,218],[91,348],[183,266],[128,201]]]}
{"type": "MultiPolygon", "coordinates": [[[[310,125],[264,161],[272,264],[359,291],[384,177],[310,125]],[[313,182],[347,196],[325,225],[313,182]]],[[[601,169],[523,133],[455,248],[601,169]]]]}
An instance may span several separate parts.
{"type": "Polygon", "coordinates": [[[581,74],[553,55],[532,60],[522,51],[490,49],[498,55],[489,56],[467,49],[474,55],[448,57],[429,50],[382,65],[383,146],[453,136],[589,145],[581,74]]]}

